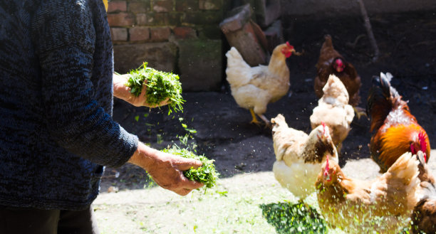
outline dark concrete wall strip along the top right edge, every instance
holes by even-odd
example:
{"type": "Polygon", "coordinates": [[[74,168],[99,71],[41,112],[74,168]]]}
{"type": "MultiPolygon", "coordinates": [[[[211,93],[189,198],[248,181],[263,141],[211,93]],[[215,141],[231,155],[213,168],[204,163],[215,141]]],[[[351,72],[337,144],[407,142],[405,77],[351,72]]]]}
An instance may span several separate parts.
{"type": "MultiPolygon", "coordinates": [[[[435,0],[363,0],[368,14],[436,9],[435,0]]],[[[360,15],[356,0],[281,0],[282,16],[326,18],[360,15]]]]}

